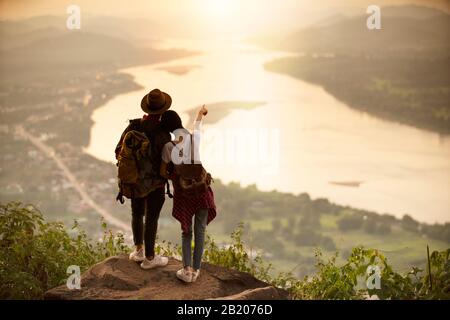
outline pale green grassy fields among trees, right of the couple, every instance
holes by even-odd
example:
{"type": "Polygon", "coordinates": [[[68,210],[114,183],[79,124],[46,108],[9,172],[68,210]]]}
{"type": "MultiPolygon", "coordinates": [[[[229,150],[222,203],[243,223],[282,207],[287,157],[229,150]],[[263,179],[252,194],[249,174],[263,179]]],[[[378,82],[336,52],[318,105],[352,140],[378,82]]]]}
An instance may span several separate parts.
{"type": "MultiPolygon", "coordinates": [[[[343,232],[339,230],[337,221],[344,215],[351,214],[352,210],[341,210],[339,215],[321,215],[321,228],[317,229],[324,236],[333,239],[337,250],[340,254],[337,258],[337,263],[344,263],[346,254],[352,248],[361,245],[369,248],[377,248],[383,253],[395,268],[401,271],[408,271],[411,266],[417,265],[424,267],[426,261],[426,246],[430,246],[430,250],[442,251],[450,247],[444,241],[427,239],[419,234],[405,231],[397,225],[391,226],[391,233],[386,235],[369,234],[363,229],[343,232]]],[[[272,230],[272,222],[274,218],[265,218],[259,220],[244,221],[250,226],[251,232],[270,231],[272,230]]],[[[282,226],[288,225],[288,219],[277,219],[282,226]]],[[[214,235],[217,242],[226,242],[227,235],[221,230],[221,226],[216,224],[212,228],[208,228],[208,232],[214,235]]],[[[280,237],[277,237],[280,239],[280,237]]],[[[256,243],[249,238],[249,245],[257,246],[256,243]]],[[[273,258],[272,255],[267,255],[267,260],[273,264],[276,271],[289,272],[302,267],[312,267],[312,263],[306,263],[305,259],[313,258],[319,247],[313,246],[299,246],[296,243],[281,240],[284,249],[288,252],[289,258],[273,258]]],[[[325,258],[331,257],[334,251],[325,251],[323,256],[325,258]]]]}

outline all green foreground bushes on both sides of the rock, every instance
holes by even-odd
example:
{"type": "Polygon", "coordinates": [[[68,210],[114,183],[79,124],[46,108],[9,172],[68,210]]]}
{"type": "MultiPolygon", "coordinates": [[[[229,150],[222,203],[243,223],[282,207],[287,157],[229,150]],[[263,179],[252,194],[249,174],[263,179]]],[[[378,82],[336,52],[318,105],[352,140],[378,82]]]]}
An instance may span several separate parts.
{"type": "MultiPolygon", "coordinates": [[[[62,224],[44,222],[32,206],[0,204],[0,299],[41,299],[46,290],[65,281],[69,265],[84,271],[109,256],[129,251],[121,234],[107,231],[104,223],[102,227],[103,238],[93,243],[77,224],[75,236],[70,236],[62,224]]],[[[298,280],[291,273],[271,275],[272,265],[244,245],[243,231],[240,224],[226,246],[218,246],[208,236],[204,260],[248,272],[289,290],[296,299],[364,299],[374,294],[380,299],[450,299],[450,249],[430,255],[431,277],[416,267],[399,274],[375,249],[354,248],[342,266],[336,264],[337,253],[325,261],[318,251],[316,274],[298,280]],[[359,280],[367,277],[369,265],[380,268],[379,290],[358,287],[359,280]]],[[[178,246],[165,241],[155,251],[166,256],[181,254],[178,246]]]]}

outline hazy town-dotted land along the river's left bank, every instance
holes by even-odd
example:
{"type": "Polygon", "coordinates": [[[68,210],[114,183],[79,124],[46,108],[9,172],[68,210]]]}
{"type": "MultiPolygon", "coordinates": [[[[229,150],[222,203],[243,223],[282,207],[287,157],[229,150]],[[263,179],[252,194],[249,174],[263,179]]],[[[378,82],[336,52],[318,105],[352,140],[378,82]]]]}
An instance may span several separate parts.
{"type": "Polygon", "coordinates": [[[69,31],[64,19],[54,17],[0,22],[5,40],[0,52],[0,141],[5,150],[0,201],[36,203],[67,224],[79,219],[94,235],[99,210],[80,201],[74,185],[101,210],[119,219],[128,214],[111,196],[117,189],[115,167],[83,152],[92,113],[117,94],[142,89],[121,68],[194,53],[158,50],[147,42],[124,40],[121,32],[115,37],[85,29],[69,31]]]}

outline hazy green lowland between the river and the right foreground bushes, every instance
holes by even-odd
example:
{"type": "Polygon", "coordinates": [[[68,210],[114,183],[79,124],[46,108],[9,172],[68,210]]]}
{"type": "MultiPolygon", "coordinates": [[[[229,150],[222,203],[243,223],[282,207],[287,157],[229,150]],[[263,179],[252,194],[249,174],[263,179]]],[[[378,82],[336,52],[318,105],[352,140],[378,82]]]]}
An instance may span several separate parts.
{"type": "MultiPolygon", "coordinates": [[[[402,219],[312,199],[308,194],[262,192],[255,186],[214,185],[218,216],[207,232],[222,244],[240,222],[243,239],[272,263],[275,271],[301,278],[314,272],[319,249],[330,257],[339,251],[340,262],[355,246],[374,247],[401,271],[425,266],[427,244],[433,250],[450,248],[450,223],[429,225],[410,216],[402,219]]],[[[170,203],[161,214],[160,237],[178,243],[179,226],[173,223],[170,203]]]]}

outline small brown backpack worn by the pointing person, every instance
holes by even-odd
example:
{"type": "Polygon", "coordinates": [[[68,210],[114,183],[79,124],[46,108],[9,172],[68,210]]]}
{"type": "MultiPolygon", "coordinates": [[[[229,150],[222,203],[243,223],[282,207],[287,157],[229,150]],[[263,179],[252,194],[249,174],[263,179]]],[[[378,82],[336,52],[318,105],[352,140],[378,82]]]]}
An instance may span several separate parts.
{"type": "MultiPolygon", "coordinates": [[[[182,150],[180,150],[180,155],[182,155],[182,150]]],[[[194,144],[192,135],[191,163],[174,165],[174,170],[176,173],[176,179],[173,183],[175,184],[177,194],[181,194],[182,197],[198,197],[208,190],[213,180],[211,174],[203,168],[202,164],[194,163],[194,144]]]]}

